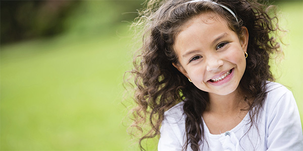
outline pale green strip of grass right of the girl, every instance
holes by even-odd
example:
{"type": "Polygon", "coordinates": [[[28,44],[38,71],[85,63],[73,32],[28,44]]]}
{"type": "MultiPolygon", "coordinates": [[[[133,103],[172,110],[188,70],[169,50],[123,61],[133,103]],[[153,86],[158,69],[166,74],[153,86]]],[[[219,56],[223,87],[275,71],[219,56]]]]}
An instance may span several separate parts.
{"type": "Polygon", "coordinates": [[[285,41],[289,44],[284,48],[284,60],[276,72],[277,82],[287,86],[292,91],[300,111],[303,123],[303,2],[282,1],[278,3],[282,17],[279,20],[282,27],[289,30],[285,41]]]}

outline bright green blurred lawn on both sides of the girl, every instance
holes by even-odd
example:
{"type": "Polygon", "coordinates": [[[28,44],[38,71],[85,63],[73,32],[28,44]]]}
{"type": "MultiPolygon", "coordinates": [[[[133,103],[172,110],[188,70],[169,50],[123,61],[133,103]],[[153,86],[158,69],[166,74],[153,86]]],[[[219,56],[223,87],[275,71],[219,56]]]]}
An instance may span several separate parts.
{"type": "MultiPolygon", "coordinates": [[[[302,122],[303,2],[279,7],[289,46],[275,73],[293,92],[302,122]]],[[[133,53],[127,25],[1,45],[0,150],[138,150],[122,122],[133,53]]]]}

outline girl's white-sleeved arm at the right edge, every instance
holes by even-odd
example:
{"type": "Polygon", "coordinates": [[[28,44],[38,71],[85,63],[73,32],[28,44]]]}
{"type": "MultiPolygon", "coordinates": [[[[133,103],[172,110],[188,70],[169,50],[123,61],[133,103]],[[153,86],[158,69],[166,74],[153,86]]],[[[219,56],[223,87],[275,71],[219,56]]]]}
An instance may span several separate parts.
{"type": "MultiPolygon", "coordinates": [[[[286,88],[285,88],[286,89],[286,88]]],[[[279,94],[277,94],[279,95],[279,94]]],[[[282,95],[268,113],[267,147],[269,150],[303,150],[300,116],[292,93],[282,95]]]]}

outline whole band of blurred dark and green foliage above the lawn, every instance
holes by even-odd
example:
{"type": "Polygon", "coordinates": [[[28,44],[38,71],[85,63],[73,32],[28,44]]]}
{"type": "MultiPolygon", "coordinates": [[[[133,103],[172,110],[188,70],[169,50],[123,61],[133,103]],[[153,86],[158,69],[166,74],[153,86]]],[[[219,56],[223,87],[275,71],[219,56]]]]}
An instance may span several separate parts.
{"type": "Polygon", "coordinates": [[[143,2],[1,1],[0,43],[54,36],[74,28],[85,29],[85,32],[95,30],[97,26],[111,27],[123,20],[133,20],[137,16],[134,12],[143,2]]]}

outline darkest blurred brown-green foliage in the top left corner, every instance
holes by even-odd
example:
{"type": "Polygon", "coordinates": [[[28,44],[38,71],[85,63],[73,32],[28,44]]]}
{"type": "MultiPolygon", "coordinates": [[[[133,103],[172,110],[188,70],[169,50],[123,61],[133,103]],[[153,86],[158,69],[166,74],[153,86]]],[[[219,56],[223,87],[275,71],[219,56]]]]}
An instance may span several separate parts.
{"type": "Polygon", "coordinates": [[[62,22],[79,1],[1,1],[1,43],[62,32],[62,22]]]}

